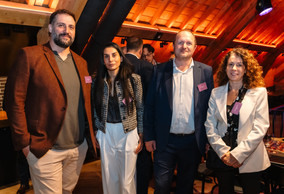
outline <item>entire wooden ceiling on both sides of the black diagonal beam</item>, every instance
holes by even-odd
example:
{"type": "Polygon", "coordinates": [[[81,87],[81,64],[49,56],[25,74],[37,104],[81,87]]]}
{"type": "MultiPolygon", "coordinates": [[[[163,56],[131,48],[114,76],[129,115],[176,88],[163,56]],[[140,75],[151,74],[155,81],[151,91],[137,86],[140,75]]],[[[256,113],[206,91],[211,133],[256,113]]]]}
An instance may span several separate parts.
{"type": "MultiPolygon", "coordinates": [[[[0,23],[44,27],[55,9],[69,9],[79,17],[86,2],[0,1],[0,23]],[[23,6],[25,9],[17,8],[23,6]]],[[[213,66],[214,70],[230,48],[241,45],[254,52],[265,75],[270,79],[272,74],[277,76],[269,84],[271,87],[278,84],[283,92],[284,2],[271,0],[273,10],[265,16],[258,15],[256,3],[257,0],[137,0],[117,35],[154,40],[160,32],[161,41],[171,42],[179,30],[190,29],[199,45],[194,58],[213,66]]]]}

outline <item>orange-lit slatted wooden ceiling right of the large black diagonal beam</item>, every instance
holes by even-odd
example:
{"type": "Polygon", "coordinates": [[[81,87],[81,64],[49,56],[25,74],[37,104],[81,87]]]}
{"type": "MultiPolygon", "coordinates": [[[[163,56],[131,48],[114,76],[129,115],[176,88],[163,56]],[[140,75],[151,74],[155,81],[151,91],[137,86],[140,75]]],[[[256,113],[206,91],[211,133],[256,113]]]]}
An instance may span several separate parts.
{"type": "MultiPolygon", "coordinates": [[[[122,25],[120,36],[135,35],[172,41],[181,29],[190,29],[198,44],[210,46],[200,58],[212,64],[226,48],[242,45],[251,50],[275,52],[284,44],[282,0],[272,0],[274,9],[259,16],[257,0],[137,0],[122,25]]],[[[281,49],[283,50],[283,49],[281,49]]]]}

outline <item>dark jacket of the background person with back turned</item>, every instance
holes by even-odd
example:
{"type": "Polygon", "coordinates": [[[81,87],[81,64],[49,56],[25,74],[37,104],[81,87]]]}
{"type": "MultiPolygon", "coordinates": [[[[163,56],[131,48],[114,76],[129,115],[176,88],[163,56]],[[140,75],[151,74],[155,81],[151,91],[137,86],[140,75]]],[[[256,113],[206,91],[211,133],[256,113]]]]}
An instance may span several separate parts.
{"type": "Polygon", "coordinates": [[[153,65],[148,61],[138,59],[133,54],[126,54],[126,58],[134,66],[134,73],[140,75],[143,87],[143,99],[145,99],[152,78],[153,65]]]}

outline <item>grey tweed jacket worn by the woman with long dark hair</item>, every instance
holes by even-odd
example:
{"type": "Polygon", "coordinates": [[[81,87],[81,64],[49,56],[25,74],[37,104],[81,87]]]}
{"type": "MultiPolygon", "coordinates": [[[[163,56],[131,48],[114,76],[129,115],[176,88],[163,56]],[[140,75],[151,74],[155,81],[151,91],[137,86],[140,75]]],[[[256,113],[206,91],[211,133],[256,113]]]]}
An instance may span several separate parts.
{"type": "MultiPolygon", "coordinates": [[[[137,74],[132,74],[131,84],[130,79],[128,80],[128,85],[130,86],[130,92],[134,94],[135,99],[132,99],[131,103],[134,103],[133,111],[130,112],[130,115],[127,114],[127,108],[125,105],[125,100],[123,98],[123,91],[119,81],[116,81],[114,84],[117,97],[120,117],[122,120],[122,125],[124,133],[134,130],[137,127],[138,133],[143,133],[143,89],[141,78],[137,74]],[[132,85],[134,88],[132,88],[132,85]]],[[[93,82],[94,83],[94,82],[93,82]]],[[[94,84],[92,84],[92,92],[94,92],[94,84]]],[[[94,95],[92,95],[94,96],[94,95]]],[[[104,80],[104,95],[102,97],[102,110],[101,110],[101,120],[99,119],[96,109],[94,108],[94,124],[95,130],[101,130],[105,133],[106,122],[107,122],[107,112],[108,112],[108,99],[109,99],[109,87],[106,79],[104,80]]],[[[93,99],[92,99],[93,100],[93,99]]]]}

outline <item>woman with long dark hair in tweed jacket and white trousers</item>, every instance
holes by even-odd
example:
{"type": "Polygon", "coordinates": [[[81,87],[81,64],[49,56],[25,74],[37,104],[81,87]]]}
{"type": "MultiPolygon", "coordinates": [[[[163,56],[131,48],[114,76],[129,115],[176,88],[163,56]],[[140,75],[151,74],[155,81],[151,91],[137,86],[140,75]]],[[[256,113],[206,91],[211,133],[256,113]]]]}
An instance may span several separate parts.
{"type": "Polygon", "coordinates": [[[92,102],[104,193],[135,194],[136,159],[143,146],[142,84],[115,43],[103,49],[92,102]]]}

